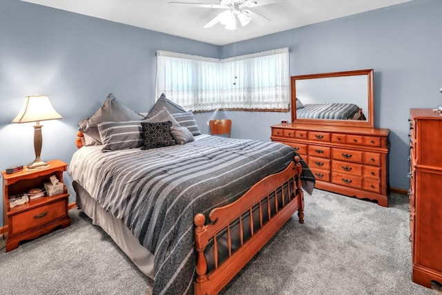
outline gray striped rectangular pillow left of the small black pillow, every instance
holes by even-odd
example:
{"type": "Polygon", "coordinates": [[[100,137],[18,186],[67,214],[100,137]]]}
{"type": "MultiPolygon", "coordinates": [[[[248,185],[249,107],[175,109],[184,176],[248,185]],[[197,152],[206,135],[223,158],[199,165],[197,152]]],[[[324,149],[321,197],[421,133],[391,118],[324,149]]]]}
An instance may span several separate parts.
{"type": "Polygon", "coordinates": [[[143,145],[142,121],[100,122],[98,131],[103,147],[102,152],[119,149],[133,149],[143,145]]]}

